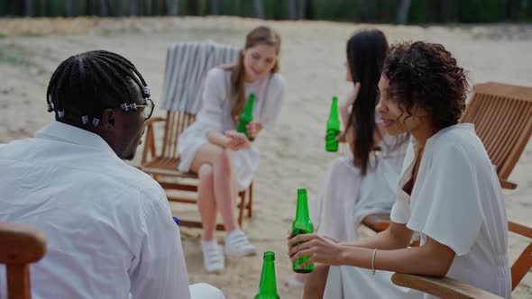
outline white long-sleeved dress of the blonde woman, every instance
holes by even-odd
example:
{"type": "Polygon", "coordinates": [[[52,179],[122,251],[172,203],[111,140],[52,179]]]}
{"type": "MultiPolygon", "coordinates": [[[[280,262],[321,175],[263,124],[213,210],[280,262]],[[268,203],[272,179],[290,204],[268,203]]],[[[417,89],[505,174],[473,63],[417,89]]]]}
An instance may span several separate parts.
{"type": "MultiPolygon", "coordinates": [[[[272,130],[284,100],[284,77],[279,73],[264,76],[251,84],[246,83],[244,89],[246,99],[251,93],[255,94],[253,121],[260,122],[266,130],[272,130]]],[[[208,142],[206,133],[212,130],[235,130],[231,116],[231,71],[222,68],[213,68],[206,74],[202,107],[196,122],[179,136],[179,171],[190,170],[197,149],[208,142]]],[[[259,166],[259,149],[252,144],[249,149],[234,151],[232,158],[238,189],[243,190],[251,184],[253,173],[259,166]]]]}

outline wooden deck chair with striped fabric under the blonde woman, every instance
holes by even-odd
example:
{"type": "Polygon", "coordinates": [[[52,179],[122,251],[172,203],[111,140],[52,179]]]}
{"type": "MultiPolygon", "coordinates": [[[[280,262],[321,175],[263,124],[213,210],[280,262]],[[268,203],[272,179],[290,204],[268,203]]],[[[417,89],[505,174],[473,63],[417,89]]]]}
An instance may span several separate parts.
{"type": "MultiPolygon", "coordinates": [[[[154,117],[146,122],[146,138],[142,151],[140,168],[157,180],[167,191],[171,202],[196,204],[197,175],[178,171],[179,134],[195,121],[200,108],[203,83],[209,69],[233,62],[237,49],[208,43],[175,43],[167,50],[166,67],[161,106],[167,111],[166,118],[154,117]],[[163,127],[162,146],[156,146],[155,124],[163,127]],[[179,195],[169,191],[179,190],[179,195]]],[[[238,223],[242,226],[243,212],[247,209],[252,217],[253,185],[239,192],[238,223]],[[246,195],[249,198],[246,203],[246,195]]],[[[200,221],[181,219],[180,226],[201,227],[200,221]]],[[[217,224],[216,230],[223,231],[224,225],[217,224]]]]}

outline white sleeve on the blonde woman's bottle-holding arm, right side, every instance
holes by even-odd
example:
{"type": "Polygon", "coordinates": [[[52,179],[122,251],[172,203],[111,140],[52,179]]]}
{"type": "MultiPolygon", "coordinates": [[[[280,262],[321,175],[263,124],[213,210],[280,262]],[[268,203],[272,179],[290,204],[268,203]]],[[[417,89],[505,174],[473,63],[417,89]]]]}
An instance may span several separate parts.
{"type": "Polygon", "coordinates": [[[284,104],[285,79],[280,74],[271,77],[271,85],[268,86],[268,98],[261,113],[261,122],[264,129],[271,131],[277,126],[280,110],[284,104]]]}

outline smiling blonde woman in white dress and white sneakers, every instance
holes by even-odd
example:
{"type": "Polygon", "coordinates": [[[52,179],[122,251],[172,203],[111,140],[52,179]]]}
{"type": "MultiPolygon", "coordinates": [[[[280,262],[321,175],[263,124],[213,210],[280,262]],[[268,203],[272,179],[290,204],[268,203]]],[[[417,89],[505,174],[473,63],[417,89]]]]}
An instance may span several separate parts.
{"type": "Polygon", "coordinates": [[[225,267],[224,250],[215,239],[218,211],[227,231],[225,254],[243,257],[256,253],[236,222],[234,198],[251,184],[259,164],[259,150],[252,140],[262,128],[272,129],[279,117],[285,90],[285,80],[278,73],[279,54],[280,36],[271,28],[260,26],[249,32],[234,64],[207,73],[197,120],[179,138],[179,170],[199,177],[197,205],[208,273],[219,273],[225,267]],[[248,140],[235,128],[251,93],[255,103],[253,121],[246,128],[248,140]]]}

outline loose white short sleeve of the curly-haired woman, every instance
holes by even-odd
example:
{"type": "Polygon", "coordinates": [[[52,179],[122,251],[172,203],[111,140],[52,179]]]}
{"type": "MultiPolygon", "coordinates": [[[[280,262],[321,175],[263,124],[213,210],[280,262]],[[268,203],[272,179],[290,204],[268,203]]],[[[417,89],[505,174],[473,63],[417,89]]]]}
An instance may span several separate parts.
{"type": "Polygon", "coordinates": [[[470,251],[482,226],[477,184],[482,174],[477,174],[474,159],[468,159],[461,144],[445,144],[434,150],[422,186],[412,195],[407,226],[462,256],[470,251]]]}

